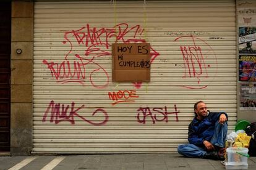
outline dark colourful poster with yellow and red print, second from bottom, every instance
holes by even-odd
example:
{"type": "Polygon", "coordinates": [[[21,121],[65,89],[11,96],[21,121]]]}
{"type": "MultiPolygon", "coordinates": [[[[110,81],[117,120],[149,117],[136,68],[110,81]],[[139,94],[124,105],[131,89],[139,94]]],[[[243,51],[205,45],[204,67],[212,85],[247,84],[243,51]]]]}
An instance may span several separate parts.
{"type": "Polygon", "coordinates": [[[256,55],[239,55],[239,81],[256,81],[256,55]]]}

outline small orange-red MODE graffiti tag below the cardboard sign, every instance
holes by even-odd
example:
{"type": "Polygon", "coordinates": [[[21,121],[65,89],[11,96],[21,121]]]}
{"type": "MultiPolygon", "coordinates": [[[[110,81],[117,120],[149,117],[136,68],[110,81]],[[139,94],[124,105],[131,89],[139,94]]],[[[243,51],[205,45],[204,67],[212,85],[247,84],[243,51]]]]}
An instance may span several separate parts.
{"type": "Polygon", "coordinates": [[[108,97],[110,100],[116,100],[116,102],[112,103],[112,105],[116,105],[117,103],[135,102],[135,100],[132,100],[132,98],[138,98],[139,96],[136,95],[136,91],[134,90],[125,90],[118,92],[108,92],[108,97]]]}

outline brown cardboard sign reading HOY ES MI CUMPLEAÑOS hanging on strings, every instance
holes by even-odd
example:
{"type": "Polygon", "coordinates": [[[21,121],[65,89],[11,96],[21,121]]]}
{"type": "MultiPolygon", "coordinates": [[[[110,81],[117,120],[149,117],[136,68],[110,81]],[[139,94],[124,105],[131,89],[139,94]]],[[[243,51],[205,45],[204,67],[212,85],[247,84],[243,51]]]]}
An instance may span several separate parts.
{"type": "Polygon", "coordinates": [[[112,80],[150,81],[150,44],[112,44],[112,80]]]}

